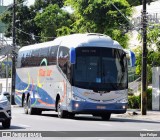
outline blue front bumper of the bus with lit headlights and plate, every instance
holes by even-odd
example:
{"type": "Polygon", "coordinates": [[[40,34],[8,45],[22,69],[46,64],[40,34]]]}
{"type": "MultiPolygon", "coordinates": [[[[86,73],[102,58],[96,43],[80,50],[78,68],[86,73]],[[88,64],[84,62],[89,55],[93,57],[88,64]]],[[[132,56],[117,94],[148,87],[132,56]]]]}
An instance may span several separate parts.
{"type": "Polygon", "coordinates": [[[70,102],[69,112],[73,113],[115,113],[123,114],[127,110],[127,103],[93,103],[87,101],[75,101],[70,102]]]}

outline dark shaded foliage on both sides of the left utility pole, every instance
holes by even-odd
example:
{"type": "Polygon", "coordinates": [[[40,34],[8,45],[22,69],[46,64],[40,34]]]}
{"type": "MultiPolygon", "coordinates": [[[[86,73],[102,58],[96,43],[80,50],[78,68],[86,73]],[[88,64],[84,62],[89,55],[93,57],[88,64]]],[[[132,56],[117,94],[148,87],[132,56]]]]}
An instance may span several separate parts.
{"type": "MultiPolygon", "coordinates": [[[[33,18],[35,16],[34,9],[24,5],[25,0],[16,1],[16,43],[17,45],[28,45],[39,42],[38,39],[32,37],[38,35],[38,28],[35,25],[33,18]],[[30,34],[25,34],[24,32],[30,34]]],[[[7,25],[5,32],[6,37],[12,36],[12,15],[13,5],[1,16],[2,22],[7,25]]]]}

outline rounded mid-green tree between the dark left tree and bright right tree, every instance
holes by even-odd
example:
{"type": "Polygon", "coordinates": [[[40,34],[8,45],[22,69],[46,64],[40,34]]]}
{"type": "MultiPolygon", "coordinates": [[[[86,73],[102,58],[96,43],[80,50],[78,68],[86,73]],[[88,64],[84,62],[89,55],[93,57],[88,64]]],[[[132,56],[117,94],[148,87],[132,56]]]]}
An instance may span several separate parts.
{"type": "Polygon", "coordinates": [[[34,21],[41,28],[40,36],[42,37],[42,41],[71,33],[71,16],[68,12],[61,9],[58,4],[50,4],[42,13],[37,13],[34,21]]]}

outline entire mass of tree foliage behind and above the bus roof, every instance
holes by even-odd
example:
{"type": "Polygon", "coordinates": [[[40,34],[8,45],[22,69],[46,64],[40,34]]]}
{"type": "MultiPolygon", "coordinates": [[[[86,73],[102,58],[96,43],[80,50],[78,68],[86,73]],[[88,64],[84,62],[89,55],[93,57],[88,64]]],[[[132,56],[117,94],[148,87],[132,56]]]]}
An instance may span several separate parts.
{"type": "MultiPolygon", "coordinates": [[[[52,40],[71,33],[96,32],[109,35],[127,47],[125,33],[130,27],[127,18],[132,11],[126,0],[36,0],[30,7],[24,5],[24,1],[16,2],[20,3],[16,5],[17,45],[52,40]],[[64,10],[66,5],[73,8],[73,13],[64,10]]],[[[11,37],[12,7],[1,19],[8,25],[5,36],[11,37]]]]}

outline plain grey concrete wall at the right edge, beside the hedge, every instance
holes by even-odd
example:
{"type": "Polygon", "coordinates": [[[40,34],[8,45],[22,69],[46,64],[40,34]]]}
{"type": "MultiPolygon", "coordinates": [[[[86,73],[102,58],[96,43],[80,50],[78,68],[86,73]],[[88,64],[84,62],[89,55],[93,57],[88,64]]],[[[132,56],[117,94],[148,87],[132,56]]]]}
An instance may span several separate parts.
{"type": "Polygon", "coordinates": [[[152,68],[152,110],[160,110],[160,67],[152,68]]]}

